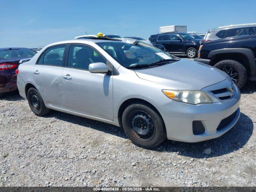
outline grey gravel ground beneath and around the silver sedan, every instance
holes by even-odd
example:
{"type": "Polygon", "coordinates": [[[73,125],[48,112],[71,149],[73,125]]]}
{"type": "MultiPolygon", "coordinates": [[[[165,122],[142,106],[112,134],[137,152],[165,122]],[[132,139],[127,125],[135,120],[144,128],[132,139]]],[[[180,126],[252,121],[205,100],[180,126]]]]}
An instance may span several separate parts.
{"type": "Polygon", "coordinates": [[[249,80],[240,120],[224,136],[146,150],[122,128],[56,111],[38,117],[18,92],[5,94],[0,186],[255,186],[255,100],[249,80]]]}

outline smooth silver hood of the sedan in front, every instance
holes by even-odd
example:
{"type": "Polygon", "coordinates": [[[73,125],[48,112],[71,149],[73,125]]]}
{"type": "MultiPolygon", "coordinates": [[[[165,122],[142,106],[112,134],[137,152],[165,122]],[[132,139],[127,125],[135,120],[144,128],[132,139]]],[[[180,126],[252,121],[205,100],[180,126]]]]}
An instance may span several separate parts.
{"type": "Polygon", "coordinates": [[[139,78],[164,84],[177,90],[201,90],[228,77],[226,73],[212,66],[186,59],[134,71],[139,78]]]}

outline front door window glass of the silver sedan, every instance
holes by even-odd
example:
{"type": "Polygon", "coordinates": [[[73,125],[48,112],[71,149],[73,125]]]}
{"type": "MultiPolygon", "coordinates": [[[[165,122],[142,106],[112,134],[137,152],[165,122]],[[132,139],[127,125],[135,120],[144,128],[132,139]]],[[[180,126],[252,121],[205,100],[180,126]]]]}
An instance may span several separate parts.
{"type": "Polygon", "coordinates": [[[106,59],[91,47],[70,45],[68,53],[68,67],[88,70],[89,65],[96,62],[106,64],[106,59]]]}

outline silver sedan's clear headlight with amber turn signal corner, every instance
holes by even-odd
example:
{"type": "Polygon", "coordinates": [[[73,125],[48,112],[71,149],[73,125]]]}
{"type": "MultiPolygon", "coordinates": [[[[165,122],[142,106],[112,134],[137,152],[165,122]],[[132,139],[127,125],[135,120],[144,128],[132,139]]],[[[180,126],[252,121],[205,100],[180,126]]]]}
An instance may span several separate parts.
{"type": "Polygon", "coordinates": [[[202,91],[176,91],[176,90],[162,90],[168,98],[189,103],[189,104],[200,104],[200,103],[212,103],[212,100],[202,91]]]}

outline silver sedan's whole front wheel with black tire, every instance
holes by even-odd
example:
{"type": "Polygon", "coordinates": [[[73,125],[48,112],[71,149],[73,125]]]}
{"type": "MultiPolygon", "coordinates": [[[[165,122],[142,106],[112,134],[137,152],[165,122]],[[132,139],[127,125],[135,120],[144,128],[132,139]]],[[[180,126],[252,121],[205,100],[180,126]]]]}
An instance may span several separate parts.
{"type": "Polygon", "coordinates": [[[130,104],[122,114],[122,125],[130,140],[144,148],[154,148],[166,139],[166,129],[162,118],[147,104],[140,102],[130,104]],[[138,134],[137,131],[143,134],[138,134]]]}

